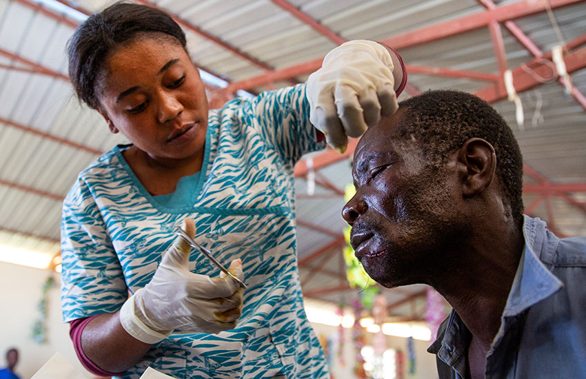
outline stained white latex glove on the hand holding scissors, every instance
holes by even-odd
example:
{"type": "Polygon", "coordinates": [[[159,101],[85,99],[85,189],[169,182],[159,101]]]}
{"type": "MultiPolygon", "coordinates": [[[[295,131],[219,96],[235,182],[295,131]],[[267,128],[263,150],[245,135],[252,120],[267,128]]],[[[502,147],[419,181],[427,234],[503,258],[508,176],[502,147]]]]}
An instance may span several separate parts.
{"type": "MultiPolygon", "coordinates": [[[[185,219],[183,230],[193,237],[194,222],[185,219]]],[[[122,306],[122,327],[137,340],[153,344],[172,331],[215,334],[236,326],[243,289],[223,273],[220,278],[210,278],[190,272],[190,250],[190,245],[178,236],[150,282],[122,306]]],[[[240,259],[232,260],[229,270],[244,280],[240,259]]]]}

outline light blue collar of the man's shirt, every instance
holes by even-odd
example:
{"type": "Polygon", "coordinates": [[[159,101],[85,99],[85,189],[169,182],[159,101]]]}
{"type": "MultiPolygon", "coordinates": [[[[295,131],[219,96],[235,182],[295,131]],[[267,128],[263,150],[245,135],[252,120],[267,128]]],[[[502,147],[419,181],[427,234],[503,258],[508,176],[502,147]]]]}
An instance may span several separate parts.
{"type": "Polygon", "coordinates": [[[525,216],[523,236],[525,248],[509,291],[504,317],[520,314],[563,287],[562,281],[549,272],[539,259],[540,256],[553,254],[559,238],[547,233],[545,223],[539,218],[529,216],[525,216]]]}

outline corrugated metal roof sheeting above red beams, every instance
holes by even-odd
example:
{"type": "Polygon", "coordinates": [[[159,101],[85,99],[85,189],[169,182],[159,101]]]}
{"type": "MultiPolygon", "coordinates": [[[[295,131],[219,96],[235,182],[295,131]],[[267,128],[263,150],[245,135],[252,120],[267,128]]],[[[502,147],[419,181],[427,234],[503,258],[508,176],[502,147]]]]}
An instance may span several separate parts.
{"type": "MultiPolygon", "coordinates": [[[[110,134],[97,112],[81,107],[63,78],[67,74],[65,43],[73,32],[70,24],[74,19],[65,17],[65,22],[59,21],[27,6],[28,1],[0,0],[0,49],[21,57],[18,61],[0,54],[0,180],[3,183],[0,183],[0,229],[54,241],[59,238],[60,199],[68,192],[77,173],[97,157],[97,152],[109,150],[124,139],[119,134],[110,134]],[[2,66],[27,68],[23,61],[41,65],[61,77],[6,70],[2,66]]],[[[495,1],[497,6],[517,2],[495,1]]],[[[95,12],[110,3],[80,0],[75,6],[95,12]]],[[[484,10],[480,1],[474,0],[292,0],[290,3],[343,39],[387,39],[484,10]]],[[[269,0],[161,0],[156,5],[194,26],[183,24],[194,61],[229,81],[259,76],[267,68],[280,70],[319,59],[336,45],[269,0]],[[198,30],[216,37],[217,41],[210,41],[198,30]],[[232,45],[236,50],[228,50],[225,45],[232,45]]],[[[583,2],[557,8],[554,15],[565,41],[585,33],[583,2]]],[[[545,12],[514,22],[543,52],[560,43],[552,19],[545,12]]],[[[509,68],[534,58],[505,28],[502,32],[509,68]]],[[[498,74],[487,28],[402,48],[399,52],[412,66],[498,74]]],[[[306,77],[307,74],[300,74],[292,81],[279,80],[251,90],[279,88],[304,81],[306,77]]],[[[576,88],[586,93],[586,70],[574,72],[572,79],[576,88]]],[[[473,79],[410,74],[410,85],[418,90],[456,88],[474,92],[489,84],[473,79]]],[[[405,92],[401,99],[407,96],[405,92]]],[[[512,102],[503,100],[494,106],[514,130],[525,163],[554,183],[586,183],[584,107],[565,94],[555,81],[547,81],[520,97],[525,111],[523,129],[516,124],[512,102]]],[[[320,174],[339,189],[352,181],[347,160],[320,170],[320,174]]],[[[527,177],[526,182],[535,181],[527,177]]],[[[325,198],[324,193],[333,192],[319,186],[315,198],[301,196],[306,193],[306,186],[305,180],[299,178],[296,183],[298,218],[341,233],[345,227],[341,218],[343,198],[325,198]]],[[[586,195],[571,196],[585,203],[586,195]]],[[[535,194],[526,194],[526,205],[536,198],[535,194]]],[[[586,234],[586,211],[559,199],[552,203],[556,225],[564,234],[586,234]]],[[[547,219],[545,203],[538,205],[534,214],[547,219]]],[[[336,239],[303,225],[299,225],[298,231],[300,259],[336,239]]],[[[1,233],[0,243],[10,235],[1,233]]],[[[329,254],[336,256],[339,252],[334,250],[329,254]]],[[[333,260],[324,264],[337,267],[333,260]]],[[[301,272],[303,277],[307,269],[302,268],[301,272]]],[[[330,279],[334,280],[323,278],[320,282],[314,278],[310,285],[324,287],[330,279]]],[[[415,287],[411,293],[420,290],[415,287]]],[[[341,295],[328,296],[330,300],[339,300],[341,295]]]]}

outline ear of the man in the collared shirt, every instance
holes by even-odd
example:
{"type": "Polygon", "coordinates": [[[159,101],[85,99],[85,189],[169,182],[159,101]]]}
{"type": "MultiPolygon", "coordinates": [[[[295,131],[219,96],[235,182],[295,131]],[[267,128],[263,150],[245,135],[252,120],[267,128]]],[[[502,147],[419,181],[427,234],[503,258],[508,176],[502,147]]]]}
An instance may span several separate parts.
{"type": "Polygon", "coordinates": [[[492,183],[496,170],[494,147],[483,139],[469,139],[458,152],[462,194],[470,198],[481,194],[492,183]]]}

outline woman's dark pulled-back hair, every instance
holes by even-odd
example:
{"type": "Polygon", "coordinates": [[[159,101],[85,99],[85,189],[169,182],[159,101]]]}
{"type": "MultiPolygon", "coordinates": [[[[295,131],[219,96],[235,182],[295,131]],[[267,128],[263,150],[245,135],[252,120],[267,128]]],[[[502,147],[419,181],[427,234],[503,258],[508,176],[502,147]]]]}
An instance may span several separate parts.
{"type": "Polygon", "coordinates": [[[108,54],[149,32],[168,34],[187,51],[179,25],[165,12],[149,6],[114,3],[79,25],[67,46],[69,77],[79,100],[97,109],[96,80],[108,54]]]}

